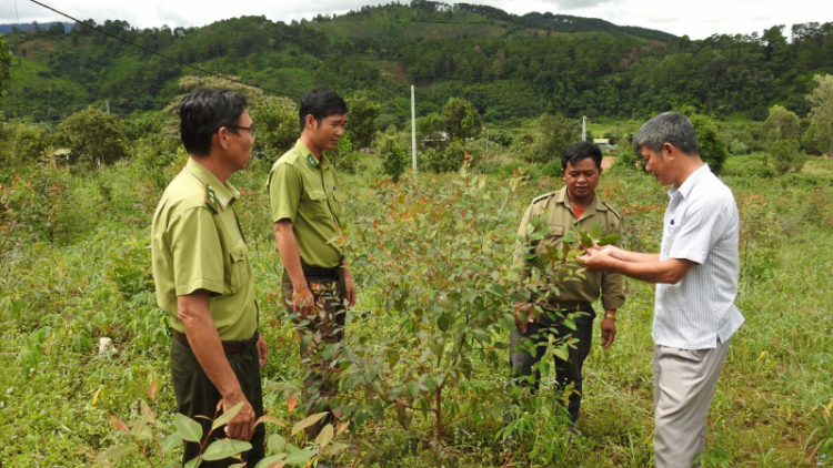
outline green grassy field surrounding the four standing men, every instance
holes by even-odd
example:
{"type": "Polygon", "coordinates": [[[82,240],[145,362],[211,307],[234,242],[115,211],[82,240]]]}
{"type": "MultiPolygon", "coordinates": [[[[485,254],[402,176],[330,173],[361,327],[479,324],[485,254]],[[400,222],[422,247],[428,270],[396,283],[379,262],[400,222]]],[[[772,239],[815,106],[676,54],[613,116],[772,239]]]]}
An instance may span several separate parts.
{"type": "MultiPolygon", "coordinates": [[[[745,161],[731,159],[727,167],[745,161]]],[[[294,332],[279,303],[281,266],[262,189],[268,166],[268,161],[257,161],[231,182],[243,192],[242,226],[251,244],[261,329],[272,353],[263,372],[265,405],[271,415],[292,423],[301,416],[291,410],[288,397],[298,395],[302,369],[294,332]]],[[[372,182],[377,166],[371,159],[360,164],[362,175],[342,180],[351,235],[374,230],[374,221],[387,216],[388,199],[372,182]]],[[[40,167],[17,181],[12,174],[0,179],[6,206],[0,231],[0,425],[9,428],[0,433],[0,466],[82,466],[91,460],[87,454],[123,440],[108,418],[117,415],[131,424],[142,399],[154,408],[162,428],[171,427],[169,337],[153,299],[147,245],[152,210],[175,172],[168,167],[151,174],[123,164],[98,171],[40,167]],[[101,337],[113,339],[116,354],[99,355],[101,337]],[[151,398],[147,389],[154,381],[160,390],[151,398]]],[[[742,214],[736,304],[746,323],[732,342],[717,385],[704,466],[792,468],[829,466],[833,458],[833,308],[827,297],[833,291],[833,166],[813,160],[806,172],[771,180],[724,177],[742,214]]],[[[419,175],[410,183],[428,191],[452,186],[456,179],[419,175]]],[[[483,203],[496,203],[505,185],[489,176],[483,203]]],[[[516,222],[535,194],[559,186],[549,177],[529,181],[510,201],[506,216],[516,222]]],[[[655,251],[665,190],[628,171],[606,173],[600,190],[623,216],[628,246],[655,251]]],[[[360,298],[347,339],[372,343],[393,332],[394,315],[385,312],[375,283],[361,276],[357,281],[360,298]]],[[[500,421],[462,414],[446,419],[443,433],[459,466],[652,466],[652,286],[628,282],[616,343],[608,350],[595,346],[585,364],[580,437],[571,441],[558,430],[552,405],[542,405],[528,415],[530,427],[515,450],[501,454],[495,441],[500,421]]],[[[505,354],[499,362],[505,362],[505,354]]],[[[504,405],[508,369],[479,358],[472,364],[471,377],[461,380],[469,384],[456,386],[450,401],[504,405]]],[[[391,373],[384,378],[400,377],[391,373]]],[[[342,461],[348,466],[358,454],[364,466],[440,466],[429,448],[431,425],[416,414],[405,430],[388,406],[383,418],[371,418],[343,439],[354,451],[342,461]]],[[[283,434],[270,426],[275,430],[283,434]]],[[[299,437],[292,440],[302,445],[299,437]]],[[[113,466],[147,465],[124,459],[113,466]]]]}

